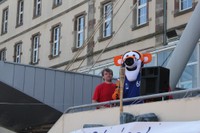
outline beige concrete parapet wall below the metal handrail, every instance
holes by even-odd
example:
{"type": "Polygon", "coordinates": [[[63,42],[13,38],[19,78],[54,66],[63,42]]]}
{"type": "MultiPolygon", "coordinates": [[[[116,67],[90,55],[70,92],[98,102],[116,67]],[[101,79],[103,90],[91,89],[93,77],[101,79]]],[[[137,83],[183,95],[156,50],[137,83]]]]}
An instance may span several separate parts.
{"type": "MultiPolygon", "coordinates": [[[[199,97],[168,100],[125,106],[124,112],[133,115],[155,113],[160,121],[195,121],[200,119],[199,97]]],[[[84,124],[119,124],[119,107],[64,114],[48,133],[69,133],[84,124]]]]}

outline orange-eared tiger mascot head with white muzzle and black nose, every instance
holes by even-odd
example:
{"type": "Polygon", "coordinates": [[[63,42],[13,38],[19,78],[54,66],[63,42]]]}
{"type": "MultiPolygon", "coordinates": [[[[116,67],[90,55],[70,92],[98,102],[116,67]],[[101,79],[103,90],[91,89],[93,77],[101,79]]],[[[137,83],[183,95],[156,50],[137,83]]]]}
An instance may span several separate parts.
{"type": "Polygon", "coordinates": [[[124,55],[114,57],[116,66],[125,67],[125,76],[129,81],[134,81],[138,76],[143,64],[151,62],[152,55],[150,53],[142,54],[138,51],[128,51],[124,55]]]}

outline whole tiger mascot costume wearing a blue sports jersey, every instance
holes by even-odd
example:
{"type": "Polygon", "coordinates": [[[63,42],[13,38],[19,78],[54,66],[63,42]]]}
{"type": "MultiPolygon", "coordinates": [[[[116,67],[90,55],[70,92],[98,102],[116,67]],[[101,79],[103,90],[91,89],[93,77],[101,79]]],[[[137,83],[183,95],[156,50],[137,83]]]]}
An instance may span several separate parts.
{"type": "MultiPolygon", "coordinates": [[[[152,60],[150,53],[142,54],[138,51],[128,51],[124,55],[114,57],[114,64],[125,68],[125,81],[123,87],[123,98],[140,96],[141,68],[152,60]]],[[[116,86],[119,86],[117,81],[116,86]]],[[[119,99],[119,89],[112,95],[114,100],[119,99]]],[[[138,101],[137,101],[138,102],[138,101]]],[[[132,103],[132,102],[131,102],[132,103]]],[[[124,104],[131,104],[130,102],[124,104]]]]}

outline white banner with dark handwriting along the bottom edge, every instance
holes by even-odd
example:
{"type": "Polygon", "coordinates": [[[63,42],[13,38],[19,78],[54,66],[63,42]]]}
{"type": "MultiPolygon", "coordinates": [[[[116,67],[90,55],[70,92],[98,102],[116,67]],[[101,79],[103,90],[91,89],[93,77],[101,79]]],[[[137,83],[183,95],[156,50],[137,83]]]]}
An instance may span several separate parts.
{"type": "Polygon", "coordinates": [[[200,133],[200,121],[132,122],[116,126],[84,128],[71,133],[200,133]]]}

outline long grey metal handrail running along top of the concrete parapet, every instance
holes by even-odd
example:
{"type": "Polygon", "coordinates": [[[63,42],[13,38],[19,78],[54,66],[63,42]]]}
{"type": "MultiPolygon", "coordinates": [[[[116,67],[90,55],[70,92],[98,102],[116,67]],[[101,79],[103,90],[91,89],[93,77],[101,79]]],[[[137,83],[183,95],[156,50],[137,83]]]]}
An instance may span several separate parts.
{"type": "MultiPolygon", "coordinates": [[[[164,92],[164,93],[159,93],[159,94],[138,96],[138,97],[133,97],[133,98],[126,98],[126,99],[123,99],[123,102],[130,102],[130,101],[134,101],[134,100],[145,100],[145,99],[158,98],[158,97],[164,97],[164,96],[170,96],[170,95],[176,95],[176,94],[184,94],[184,93],[188,93],[188,92],[200,92],[200,88],[164,92]]],[[[64,113],[70,113],[71,110],[75,110],[75,109],[84,109],[84,108],[89,108],[89,107],[91,108],[91,107],[97,107],[97,106],[103,106],[103,105],[112,105],[112,104],[119,103],[119,102],[120,102],[120,100],[113,100],[113,101],[107,101],[107,102],[101,102],[101,103],[91,103],[91,104],[73,106],[73,107],[67,108],[64,111],[64,113]]]]}

